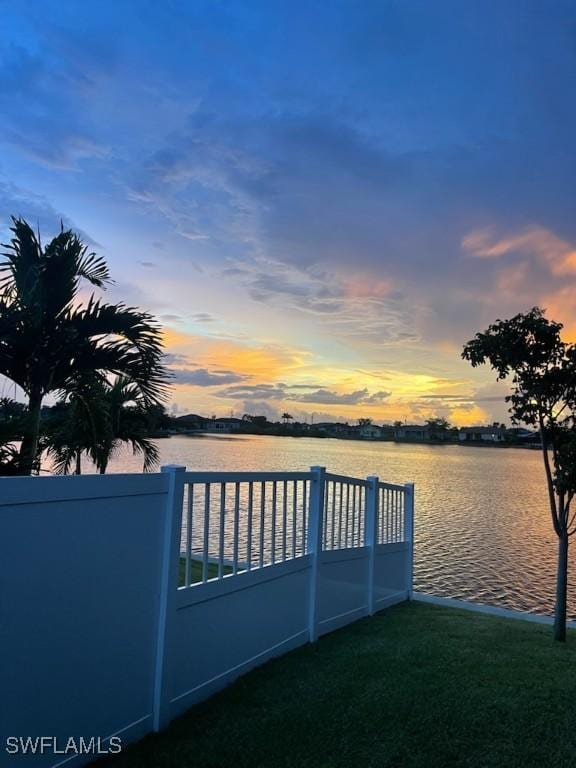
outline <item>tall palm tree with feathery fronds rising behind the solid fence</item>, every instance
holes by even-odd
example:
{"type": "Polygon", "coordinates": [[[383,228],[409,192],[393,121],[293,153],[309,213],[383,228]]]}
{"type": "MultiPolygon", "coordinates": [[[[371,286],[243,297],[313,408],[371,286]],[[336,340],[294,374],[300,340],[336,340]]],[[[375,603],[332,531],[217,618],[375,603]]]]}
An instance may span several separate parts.
{"type": "Polygon", "coordinates": [[[127,376],[147,405],[166,395],[160,328],[151,315],[92,294],[79,301],[81,281],[110,282],[103,258],[88,252],[71,230],[45,247],[23,219],[12,219],[13,238],[0,263],[0,374],[28,397],[28,421],[19,473],[39,460],[40,409],[49,392],[65,395],[84,378],[127,376]]]}

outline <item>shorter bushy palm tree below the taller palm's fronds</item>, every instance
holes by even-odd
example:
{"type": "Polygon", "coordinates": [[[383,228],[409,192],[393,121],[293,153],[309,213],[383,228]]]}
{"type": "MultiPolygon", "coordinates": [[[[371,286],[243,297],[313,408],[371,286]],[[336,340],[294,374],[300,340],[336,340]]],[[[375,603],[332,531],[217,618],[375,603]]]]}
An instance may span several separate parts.
{"type": "Polygon", "coordinates": [[[129,444],[134,454],[142,455],[145,472],[159,460],[158,449],[148,439],[156,418],[154,406],[144,404],[139,388],[118,377],[112,384],[95,380],[74,392],[53,410],[60,413],[47,424],[45,447],[58,474],[81,474],[82,454],[86,454],[100,474],[104,474],[114,452],[129,444]]]}

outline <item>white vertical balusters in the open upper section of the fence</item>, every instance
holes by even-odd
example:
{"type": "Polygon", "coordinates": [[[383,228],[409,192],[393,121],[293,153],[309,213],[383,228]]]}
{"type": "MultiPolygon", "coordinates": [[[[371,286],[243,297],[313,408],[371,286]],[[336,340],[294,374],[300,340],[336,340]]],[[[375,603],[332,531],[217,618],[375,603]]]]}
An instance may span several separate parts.
{"type": "MultiPolygon", "coordinates": [[[[319,468],[316,468],[319,469],[319,468]]],[[[309,472],[186,472],[179,586],[197,587],[309,554],[309,472]]],[[[408,486],[322,469],[321,551],[408,541],[408,486]],[[373,510],[370,483],[376,483],[373,510]],[[375,531],[367,530],[374,512],[375,531]]]]}

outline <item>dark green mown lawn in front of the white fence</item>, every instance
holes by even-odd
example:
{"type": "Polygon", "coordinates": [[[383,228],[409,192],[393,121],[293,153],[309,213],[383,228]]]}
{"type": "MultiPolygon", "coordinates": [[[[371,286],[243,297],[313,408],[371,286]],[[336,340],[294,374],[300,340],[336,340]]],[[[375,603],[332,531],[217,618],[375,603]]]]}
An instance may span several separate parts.
{"type": "Polygon", "coordinates": [[[560,645],[546,626],[396,606],[269,662],[109,762],[568,768],[576,635],[560,645]]]}

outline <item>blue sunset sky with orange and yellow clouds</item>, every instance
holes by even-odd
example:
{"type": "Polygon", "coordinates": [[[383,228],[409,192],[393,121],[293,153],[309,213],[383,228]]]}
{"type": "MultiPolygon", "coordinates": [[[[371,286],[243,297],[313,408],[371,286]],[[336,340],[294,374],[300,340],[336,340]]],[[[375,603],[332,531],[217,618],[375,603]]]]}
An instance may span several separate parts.
{"type": "Polygon", "coordinates": [[[0,234],[62,220],[176,413],[506,420],[461,360],[576,340],[576,6],[0,0],[0,234]]]}

